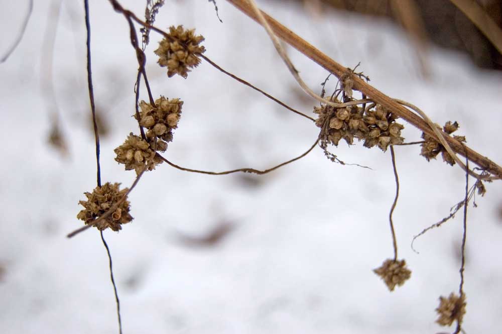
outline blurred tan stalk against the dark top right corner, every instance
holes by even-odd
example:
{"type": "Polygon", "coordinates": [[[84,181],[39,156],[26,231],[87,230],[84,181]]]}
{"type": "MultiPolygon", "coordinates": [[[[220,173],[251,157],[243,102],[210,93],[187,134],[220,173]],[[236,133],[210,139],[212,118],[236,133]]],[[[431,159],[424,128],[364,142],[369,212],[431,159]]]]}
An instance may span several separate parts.
{"type": "Polygon", "coordinates": [[[450,0],[502,54],[502,29],[474,0],[450,0]]]}

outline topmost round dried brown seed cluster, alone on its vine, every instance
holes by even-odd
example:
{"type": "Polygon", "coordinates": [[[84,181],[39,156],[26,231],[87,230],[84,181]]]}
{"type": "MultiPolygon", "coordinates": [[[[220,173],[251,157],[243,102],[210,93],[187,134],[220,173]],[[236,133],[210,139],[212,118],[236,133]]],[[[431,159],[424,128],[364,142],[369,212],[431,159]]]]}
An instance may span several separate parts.
{"type": "Polygon", "coordinates": [[[195,29],[186,30],[183,26],[169,27],[168,37],[159,42],[155,54],[159,56],[159,65],[167,66],[167,75],[179,74],[186,79],[189,68],[200,64],[198,54],[206,49],[199,44],[204,40],[201,35],[195,35],[195,29]]]}

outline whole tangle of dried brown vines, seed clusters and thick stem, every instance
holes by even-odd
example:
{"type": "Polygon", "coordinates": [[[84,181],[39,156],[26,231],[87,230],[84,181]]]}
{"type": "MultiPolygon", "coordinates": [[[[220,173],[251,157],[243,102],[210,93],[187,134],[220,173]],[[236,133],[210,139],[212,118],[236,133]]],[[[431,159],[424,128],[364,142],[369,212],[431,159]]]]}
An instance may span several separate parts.
{"type": "MultiPolygon", "coordinates": [[[[177,27],[171,26],[169,31],[166,32],[155,27],[155,17],[164,5],[164,1],[152,2],[151,0],[147,0],[145,21],[139,19],[133,12],[124,9],[118,1],[109,0],[109,2],[113,9],[117,13],[121,14],[129,24],[131,45],[138,61],[134,118],[138,122],[140,135],[130,133],[126,141],[114,150],[116,154],[115,160],[120,164],[124,164],[126,170],[135,170],[137,177],[129,189],[124,188],[119,190],[118,183],[106,182],[101,185],[99,133],[96,121],[97,117],[91,75],[90,24],[88,17],[89,9],[87,0],[84,0],[87,28],[88,90],[95,134],[97,187],[92,193],[85,193],[87,197],[86,201],[79,202],[82,206],[84,206],[84,209],[78,213],[77,217],[78,219],[84,221],[85,226],[68,236],[72,237],[92,226],[95,226],[101,231],[101,239],[109,257],[110,276],[115,292],[120,332],[120,304],[116,285],[113,279],[111,255],[104,240],[102,231],[106,228],[118,231],[122,228],[123,224],[126,224],[133,219],[129,214],[130,203],[127,200],[127,197],[146,171],[152,171],[162,162],[166,162],[166,164],[171,167],[187,172],[210,175],[225,175],[236,172],[244,172],[261,175],[305,157],[318,145],[331,161],[346,165],[343,161],[339,160],[336,155],[327,150],[328,145],[338,146],[340,140],[342,139],[348,145],[353,145],[354,139],[356,139],[357,141],[363,141],[364,147],[378,147],[383,152],[387,152],[388,150],[390,151],[396,182],[396,195],[389,212],[389,225],[391,228],[394,258],[385,260],[381,267],[373,270],[376,275],[380,276],[384,280],[390,291],[393,291],[396,286],[403,285],[411,277],[411,271],[407,268],[406,261],[404,259],[398,260],[398,243],[393,222],[393,212],[399,198],[399,177],[396,168],[394,146],[421,144],[422,151],[420,154],[427,160],[436,158],[436,156],[441,153],[443,159],[448,164],[457,164],[465,171],[466,187],[464,199],[452,208],[448,217],[430,228],[425,229],[420,234],[422,235],[432,227],[439,227],[445,221],[452,218],[460,208],[463,208],[464,220],[459,295],[457,296],[452,293],[448,298],[440,297],[440,305],[436,309],[439,314],[439,318],[437,320],[439,324],[451,325],[454,321],[456,321],[456,332],[458,333],[461,330],[461,323],[465,314],[466,305],[465,294],[463,291],[463,270],[465,267],[464,257],[467,206],[476,190],[477,193],[481,195],[484,195],[486,192],[482,181],[491,181],[502,177],[502,168],[488,158],[465,146],[464,137],[451,137],[450,134],[458,129],[458,124],[456,122],[447,122],[441,129],[415,105],[385,95],[369,85],[369,78],[362,74],[362,72],[355,72],[355,68],[345,68],[321,53],[319,50],[315,49],[306,41],[295,35],[291,30],[282,26],[279,22],[260,11],[254,0],[228,0],[228,2],[232,3],[246,15],[255,19],[267,30],[267,33],[274,43],[277,52],[284,60],[296,82],[298,82],[307,94],[319,102],[319,106],[314,107],[314,113],[317,115],[317,119],[313,119],[310,116],[291,108],[284,102],[281,102],[277,98],[266,93],[264,90],[257,88],[249,82],[237,77],[235,74],[224,70],[206,55],[203,55],[203,53],[206,52],[205,47],[201,45],[201,42],[204,41],[204,37],[196,35],[195,29],[186,30],[180,25],[177,27]],[[139,45],[137,25],[139,25],[140,32],[142,33],[142,47],[139,45]],[[221,73],[235,79],[237,82],[261,92],[264,96],[274,100],[291,112],[308,119],[309,122],[314,122],[315,125],[320,128],[319,135],[315,138],[314,144],[303,154],[266,170],[239,168],[223,172],[203,171],[178,166],[167,160],[161,155],[161,153],[165,152],[168,148],[168,143],[173,141],[173,130],[178,127],[181,118],[183,101],[181,99],[182,97],[169,99],[162,95],[154,100],[153,96],[155,96],[155,94],[152,92],[153,89],[150,86],[145,69],[147,63],[145,47],[149,43],[149,34],[152,31],[160,34],[163,38],[154,53],[159,57],[158,64],[161,67],[167,67],[167,74],[169,78],[175,74],[178,74],[183,78],[187,78],[188,72],[197,67],[202,61],[205,61],[221,73]],[[314,62],[327,69],[330,75],[336,76],[338,78],[339,88],[337,84],[337,88],[332,92],[332,94],[327,98],[324,97],[324,85],[326,80],[329,78],[328,76],[322,84],[323,89],[321,95],[314,93],[300,77],[299,72],[295,69],[285,49],[281,46],[279,39],[291,44],[303,54],[310,57],[314,62]],[[148,93],[148,101],[142,100],[140,102],[140,84],[142,81],[145,83],[146,92],[148,93]],[[404,138],[401,136],[401,131],[404,126],[397,122],[398,119],[407,121],[412,127],[421,131],[424,141],[404,143],[404,138]],[[458,156],[466,158],[465,164],[460,161],[458,156]],[[469,162],[475,163],[479,166],[479,168],[470,169],[469,162]],[[468,182],[470,176],[475,177],[476,182],[469,188],[468,182]]],[[[209,0],[209,2],[212,2],[217,10],[216,3],[211,0],[209,0]]],[[[133,106],[131,106],[131,109],[133,109],[133,106]]],[[[222,231],[225,232],[226,230],[222,231]]],[[[220,234],[218,233],[217,236],[219,235],[220,234]]],[[[211,237],[211,242],[212,240],[213,239],[211,237]]]]}

